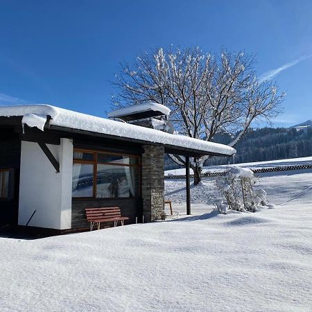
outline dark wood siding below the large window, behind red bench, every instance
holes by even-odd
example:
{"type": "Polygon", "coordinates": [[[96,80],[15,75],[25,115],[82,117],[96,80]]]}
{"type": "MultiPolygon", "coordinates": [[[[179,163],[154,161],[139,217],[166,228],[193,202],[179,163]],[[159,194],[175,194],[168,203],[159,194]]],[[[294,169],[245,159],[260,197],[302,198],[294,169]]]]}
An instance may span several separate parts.
{"type": "Polygon", "coordinates": [[[94,207],[120,207],[121,216],[128,216],[126,223],[135,223],[135,217],[141,216],[141,199],[99,199],[99,200],[73,200],[71,205],[71,228],[89,227],[85,216],[86,208],[94,207]]]}

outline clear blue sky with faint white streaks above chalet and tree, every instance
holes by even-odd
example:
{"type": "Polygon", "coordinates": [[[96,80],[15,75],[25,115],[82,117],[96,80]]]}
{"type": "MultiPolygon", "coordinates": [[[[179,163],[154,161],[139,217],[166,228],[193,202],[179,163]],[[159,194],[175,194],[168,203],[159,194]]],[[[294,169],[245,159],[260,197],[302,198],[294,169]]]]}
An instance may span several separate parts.
{"type": "Polygon", "coordinates": [[[258,75],[287,92],[275,126],[312,119],[310,0],[0,1],[0,105],[105,116],[119,62],[169,44],[225,46],[257,55],[258,75]]]}

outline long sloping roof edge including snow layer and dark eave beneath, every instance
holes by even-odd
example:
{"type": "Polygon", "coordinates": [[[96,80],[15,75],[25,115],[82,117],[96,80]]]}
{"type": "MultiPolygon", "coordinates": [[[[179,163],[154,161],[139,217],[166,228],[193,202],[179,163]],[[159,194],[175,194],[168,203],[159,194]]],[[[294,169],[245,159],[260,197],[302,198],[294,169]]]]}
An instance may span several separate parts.
{"type": "MultiPolygon", "coordinates": [[[[139,125],[103,119],[50,105],[0,107],[0,125],[8,123],[8,120],[11,118],[15,122],[17,119],[20,122],[21,117],[29,114],[46,116],[42,134],[49,132],[49,130],[56,130],[88,137],[103,137],[119,142],[128,141],[137,144],[163,145],[166,153],[191,157],[201,157],[203,155],[230,157],[236,153],[234,148],[223,144],[193,139],[182,135],[171,135],[159,130],[140,127],[139,125]]],[[[21,124],[19,125],[21,127],[21,124]]]]}

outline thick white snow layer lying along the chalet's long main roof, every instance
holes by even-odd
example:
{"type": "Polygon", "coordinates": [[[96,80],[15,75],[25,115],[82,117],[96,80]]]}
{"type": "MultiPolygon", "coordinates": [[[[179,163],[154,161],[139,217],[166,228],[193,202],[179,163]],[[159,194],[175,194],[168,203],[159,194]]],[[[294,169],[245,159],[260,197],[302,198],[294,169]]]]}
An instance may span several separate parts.
{"type": "Polygon", "coordinates": [[[222,155],[233,155],[234,148],[223,144],[216,144],[200,139],[193,139],[183,135],[171,135],[155,129],[131,125],[97,116],[64,110],[51,105],[12,105],[0,106],[0,116],[23,116],[22,122],[31,127],[42,129],[42,123],[46,122],[46,116],[51,116],[50,125],[62,128],[85,130],[89,132],[149,141],[166,146],[197,150],[198,153],[216,153],[222,155]],[[44,116],[44,118],[42,118],[44,116]]]}

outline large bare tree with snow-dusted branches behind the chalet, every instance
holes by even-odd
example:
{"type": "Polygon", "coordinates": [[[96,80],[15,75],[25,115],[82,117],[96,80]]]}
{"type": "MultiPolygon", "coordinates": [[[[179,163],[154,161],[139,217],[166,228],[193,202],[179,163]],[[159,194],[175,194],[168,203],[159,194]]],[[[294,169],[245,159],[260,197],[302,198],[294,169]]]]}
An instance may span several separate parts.
{"type": "MultiPolygon", "coordinates": [[[[114,105],[124,107],[148,101],[171,109],[171,121],[182,135],[211,141],[229,133],[234,147],[255,119],[270,121],[279,112],[284,94],[275,84],[260,82],[254,58],[223,50],[213,56],[198,48],[158,49],[133,64],[121,64],[114,82],[114,105]]],[[[209,156],[191,159],[194,184],[201,179],[202,164],[209,156]]],[[[185,159],[171,155],[177,164],[185,159]]]]}

